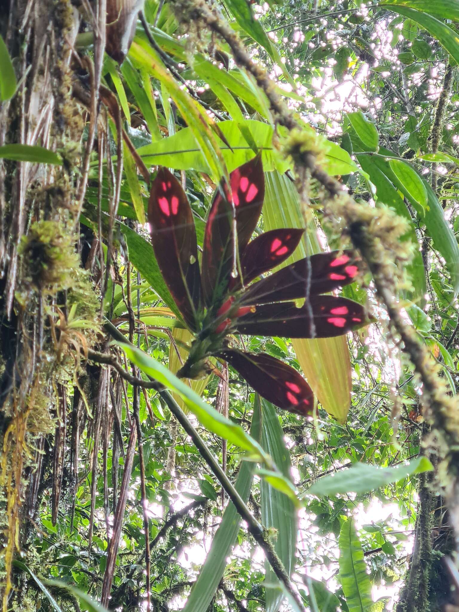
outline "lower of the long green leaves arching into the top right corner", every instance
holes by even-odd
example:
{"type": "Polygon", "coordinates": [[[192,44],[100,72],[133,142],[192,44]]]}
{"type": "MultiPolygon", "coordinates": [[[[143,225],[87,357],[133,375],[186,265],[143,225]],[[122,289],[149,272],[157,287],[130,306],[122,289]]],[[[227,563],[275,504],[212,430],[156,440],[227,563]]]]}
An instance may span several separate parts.
{"type": "MultiPolygon", "coordinates": [[[[403,0],[401,0],[403,1],[403,0]]],[[[400,2],[400,0],[398,0],[400,2]]],[[[432,15],[428,15],[427,12],[422,12],[422,10],[428,10],[430,7],[427,6],[427,2],[422,3],[422,10],[414,10],[408,8],[408,6],[412,6],[412,4],[417,4],[413,0],[409,2],[403,2],[404,6],[400,6],[397,0],[383,0],[381,4],[384,4],[390,10],[395,11],[396,13],[400,13],[400,15],[405,15],[405,17],[409,17],[412,21],[416,21],[422,28],[426,29],[431,36],[438,40],[441,45],[448,51],[448,53],[455,59],[455,61],[459,64],[459,37],[456,32],[449,28],[446,24],[442,23],[432,15]]],[[[438,9],[439,17],[447,17],[453,18],[450,15],[457,15],[458,4],[457,0],[449,0],[448,2],[439,2],[431,3],[435,4],[435,7],[439,7],[439,4],[442,4],[443,9],[438,9]],[[452,5],[452,13],[449,13],[450,4],[452,5]],[[441,13],[440,13],[441,10],[441,13]],[[444,13],[446,12],[446,15],[444,13]]],[[[419,6],[416,6],[419,9],[419,6]]]]}

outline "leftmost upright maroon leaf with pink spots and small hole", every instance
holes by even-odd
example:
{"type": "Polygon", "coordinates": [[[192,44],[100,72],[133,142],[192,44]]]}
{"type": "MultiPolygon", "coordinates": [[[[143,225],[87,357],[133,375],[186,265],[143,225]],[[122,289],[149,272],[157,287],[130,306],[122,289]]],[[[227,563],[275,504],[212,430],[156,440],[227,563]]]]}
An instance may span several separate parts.
{"type": "Polygon", "coordinates": [[[148,203],[151,241],[163,278],[185,323],[198,329],[201,279],[193,212],[176,177],[159,168],[148,203]]]}

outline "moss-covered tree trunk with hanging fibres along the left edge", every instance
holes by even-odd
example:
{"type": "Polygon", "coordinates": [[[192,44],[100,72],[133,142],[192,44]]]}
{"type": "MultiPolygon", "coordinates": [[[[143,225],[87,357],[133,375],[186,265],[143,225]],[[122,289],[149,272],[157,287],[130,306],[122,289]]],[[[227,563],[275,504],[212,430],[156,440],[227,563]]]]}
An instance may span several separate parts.
{"type": "MultiPolygon", "coordinates": [[[[72,51],[80,20],[79,9],[70,0],[0,4],[0,33],[18,80],[16,94],[0,103],[0,146],[42,146],[59,152],[63,160],[51,165],[0,159],[4,611],[23,601],[25,581],[12,562],[27,548],[45,472],[53,474],[46,494],[52,498],[56,518],[69,436],[69,391],[79,378],[75,348],[84,345],[88,336],[86,331],[78,336],[69,329],[72,305],[73,318],[94,321],[90,335],[97,326],[97,297],[78,253],[77,195],[86,182],[80,168],[87,113],[72,95],[75,69],[81,70],[72,51]]],[[[22,560],[27,562],[26,554],[22,560]]]]}

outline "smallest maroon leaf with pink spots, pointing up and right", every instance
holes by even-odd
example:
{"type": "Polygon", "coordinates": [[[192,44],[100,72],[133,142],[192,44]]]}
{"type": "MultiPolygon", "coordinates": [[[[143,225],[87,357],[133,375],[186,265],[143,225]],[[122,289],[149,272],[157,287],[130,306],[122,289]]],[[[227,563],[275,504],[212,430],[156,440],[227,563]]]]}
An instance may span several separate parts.
{"type": "Polygon", "coordinates": [[[293,228],[271,230],[249,242],[241,256],[244,285],[282,264],[294,252],[303,234],[304,230],[293,228]]]}

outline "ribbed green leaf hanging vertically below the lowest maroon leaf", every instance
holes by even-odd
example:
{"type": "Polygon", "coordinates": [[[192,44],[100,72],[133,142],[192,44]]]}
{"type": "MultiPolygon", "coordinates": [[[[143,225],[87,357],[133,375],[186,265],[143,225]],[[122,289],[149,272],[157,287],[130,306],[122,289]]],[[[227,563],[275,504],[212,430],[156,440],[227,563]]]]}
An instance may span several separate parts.
{"type": "MultiPolygon", "coordinates": [[[[297,515],[296,499],[293,484],[291,484],[291,461],[288,449],[285,446],[282,427],[280,426],[277,412],[269,401],[256,395],[255,403],[261,404],[261,446],[271,455],[275,465],[280,470],[283,480],[281,491],[278,485],[280,481],[273,482],[273,477],[266,474],[261,481],[261,519],[263,526],[274,528],[277,536],[274,548],[288,575],[293,571],[296,553],[297,538],[297,515]],[[290,485],[290,486],[289,486],[290,485]]],[[[272,473],[272,472],[271,472],[272,473]]],[[[277,584],[271,565],[265,563],[266,581],[266,612],[277,612],[284,594],[280,588],[269,588],[268,584],[277,584]]]]}

